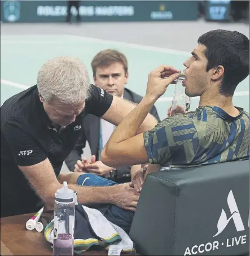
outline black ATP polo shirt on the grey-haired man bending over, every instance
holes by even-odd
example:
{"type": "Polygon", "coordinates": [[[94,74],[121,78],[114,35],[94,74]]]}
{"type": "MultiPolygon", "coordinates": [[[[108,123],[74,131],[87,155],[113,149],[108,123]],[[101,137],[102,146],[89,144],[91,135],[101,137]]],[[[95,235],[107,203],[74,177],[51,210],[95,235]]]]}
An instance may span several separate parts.
{"type": "Polygon", "coordinates": [[[74,123],[56,131],[38,96],[37,85],[7,99],[1,107],[1,217],[39,210],[41,199],[17,166],[48,158],[58,176],[81,134],[87,114],[103,116],[113,96],[91,85],[91,96],[74,123]]]}

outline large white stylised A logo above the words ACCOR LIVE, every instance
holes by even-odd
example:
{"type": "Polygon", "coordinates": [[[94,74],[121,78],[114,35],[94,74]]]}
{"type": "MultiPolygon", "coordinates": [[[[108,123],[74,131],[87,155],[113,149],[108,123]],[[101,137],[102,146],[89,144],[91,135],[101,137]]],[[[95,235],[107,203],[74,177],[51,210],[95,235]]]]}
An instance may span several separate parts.
{"type": "MultiPolygon", "coordinates": [[[[222,209],[221,216],[217,223],[218,232],[213,237],[218,236],[226,228],[227,224],[229,224],[231,219],[233,219],[237,232],[245,230],[244,224],[242,222],[242,217],[240,216],[239,209],[236,204],[232,190],[230,190],[229,195],[227,196],[227,205],[229,206],[231,216],[227,218],[226,212],[222,209]]],[[[248,215],[248,227],[249,227],[249,215],[248,215]]]]}

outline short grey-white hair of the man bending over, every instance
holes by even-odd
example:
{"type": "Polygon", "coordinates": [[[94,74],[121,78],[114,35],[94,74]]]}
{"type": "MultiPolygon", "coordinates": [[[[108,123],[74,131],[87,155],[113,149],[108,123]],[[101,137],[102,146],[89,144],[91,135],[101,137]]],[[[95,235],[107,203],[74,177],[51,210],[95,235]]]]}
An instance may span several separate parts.
{"type": "Polygon", "coordinates": [[[89,98],[89,73],[78,58],[56,57],[40,68],[37,88],[46,102],[53,98],[66,104],[84,102],[89,98]]]}

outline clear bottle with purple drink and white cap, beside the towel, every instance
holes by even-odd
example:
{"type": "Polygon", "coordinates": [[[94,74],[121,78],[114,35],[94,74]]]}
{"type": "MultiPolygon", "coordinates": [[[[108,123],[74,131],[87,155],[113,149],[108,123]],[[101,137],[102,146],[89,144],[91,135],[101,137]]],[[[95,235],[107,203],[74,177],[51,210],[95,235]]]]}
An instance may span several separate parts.
{"type": "Polygon", "coordinates": [[[53,255],[73,255],[74,253],[74,214],[77,205],[77,193],[63,188],[55,193],[53,255]]]}

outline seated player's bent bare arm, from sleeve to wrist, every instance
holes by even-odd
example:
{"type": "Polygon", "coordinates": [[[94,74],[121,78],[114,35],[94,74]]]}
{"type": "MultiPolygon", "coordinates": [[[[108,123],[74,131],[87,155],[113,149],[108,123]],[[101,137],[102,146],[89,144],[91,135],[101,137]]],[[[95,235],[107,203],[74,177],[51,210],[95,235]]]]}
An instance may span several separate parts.
{"type": "Polygon", "coordinates": [[[149,162],[150,158],[144,144],[144,134],[147,132],[136,133],[154,103],[154,98],[145,96],[122,120],[102,151],[101,159],[104,164],[119,167],[149,162]]]}

